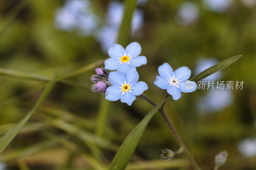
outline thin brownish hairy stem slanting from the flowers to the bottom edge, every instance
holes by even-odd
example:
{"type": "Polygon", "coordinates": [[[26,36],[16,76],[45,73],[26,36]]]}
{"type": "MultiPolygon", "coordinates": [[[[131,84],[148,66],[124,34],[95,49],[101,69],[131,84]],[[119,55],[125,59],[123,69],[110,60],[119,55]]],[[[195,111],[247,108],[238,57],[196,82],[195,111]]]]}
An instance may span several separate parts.
{"type": "MultiPolygon", "coordinates": [[[[168,97],[169,94],[167,94],[165,96],[168,97]]],[[[144,100],[146,100],[149,104],[151,104],[152,106],[156,107],[156,102],[154,102],[153,100],[151,100],[150,98],[148,98],[148,96],[146,96],[145,94],[141,94],[140,97],[144,100]]],[[[185,146],[185,144],[183,143],[183,141],[181,140],[178,132],[176,131],[176,129],[174,128],[172,122],[170,121],[169,117],[166,115],[164,109],[164,104],[162,105],[162,107],[159,108],[159,112],[162,115],[162,117],[164,118],[165,123],[167,124],[168,128],[170,129],[172,136],[174,137],[174,139],[176,140],[176,142],[179,144],[180,148],[183,148],[183,153],[185,154],[185,156],[187,157],[188,161],[190,162],[191,166],[193,166],[194,169],[196,170],[200,170],[200,167],[197,165],[195,159],[191,156],[191,154],[189,153],[187,147],[185,146]]]]}

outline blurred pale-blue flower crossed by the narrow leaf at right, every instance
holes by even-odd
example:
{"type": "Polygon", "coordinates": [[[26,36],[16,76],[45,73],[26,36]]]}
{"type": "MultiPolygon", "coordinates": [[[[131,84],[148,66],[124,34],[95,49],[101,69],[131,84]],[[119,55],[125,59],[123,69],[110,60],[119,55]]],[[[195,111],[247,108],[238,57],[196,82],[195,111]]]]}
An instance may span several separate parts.
{"type": "MultiPolygon", "coordinates": [[[[214,58],[201,58],[196,63],[197,63],[197,65],[195,68],[195,73],[198,74],[198,73],[208,69],[209,67],[212,67],[213,65],[217,64],[218,60],[216,60],[214,58]]],[[[222,76],[222,72],[218,71],[218,72],[202,79],[202,81],[217,80],[217,79],[221,78],[221,76],[222,76]]]]}

